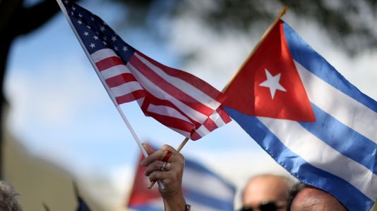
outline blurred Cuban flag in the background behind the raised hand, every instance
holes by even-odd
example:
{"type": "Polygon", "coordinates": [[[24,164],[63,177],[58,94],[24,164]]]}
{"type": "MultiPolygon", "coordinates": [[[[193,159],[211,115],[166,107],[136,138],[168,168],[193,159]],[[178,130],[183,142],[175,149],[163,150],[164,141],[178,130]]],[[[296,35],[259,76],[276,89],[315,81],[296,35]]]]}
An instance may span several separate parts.
{"type": "MultiPolygon", "coordinates": [[[[140,159],[140,161],[143,160],[140,159]]],[[[163,211],[164,203],[157,186],[148,189],[146,167],[138,165],[128,208],[138,211],[163,211]]],[[[182,189],[193,210],[234,210],[236,189],[228,181],[195,160],[186,158],[182,189]]]]}

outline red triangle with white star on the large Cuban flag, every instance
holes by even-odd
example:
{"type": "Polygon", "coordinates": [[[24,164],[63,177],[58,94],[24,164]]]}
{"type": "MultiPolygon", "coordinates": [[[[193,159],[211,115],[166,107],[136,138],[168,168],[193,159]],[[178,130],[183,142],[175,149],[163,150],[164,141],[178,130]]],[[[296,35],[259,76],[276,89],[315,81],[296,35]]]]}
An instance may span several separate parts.
{"type": "Polygon", "coordinates": [[[246,115],[316,121],[280,20],[225,91],[223,105],[246,115]]]}

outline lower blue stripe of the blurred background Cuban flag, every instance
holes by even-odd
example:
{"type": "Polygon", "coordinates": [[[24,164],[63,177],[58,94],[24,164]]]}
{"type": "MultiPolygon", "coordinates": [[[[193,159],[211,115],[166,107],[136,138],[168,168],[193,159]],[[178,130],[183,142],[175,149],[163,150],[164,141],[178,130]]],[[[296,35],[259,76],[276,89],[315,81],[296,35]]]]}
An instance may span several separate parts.
{"type": "MultiPolygon", "coordinates": [[[[213,198],[211,196],[201,193],[200,191],[195,191],[193,189],[186,188],[184,190],[184,197],[186,198],[186,200],[193,201],[205,207],[211,207],[214,210],[224,210],[224,211],[234,210],[233,200],[232,201],[220,200],[218,198],[213,198]]],[[[193,210],[195,210],[195,207],[193,207],[193,210]]]]}

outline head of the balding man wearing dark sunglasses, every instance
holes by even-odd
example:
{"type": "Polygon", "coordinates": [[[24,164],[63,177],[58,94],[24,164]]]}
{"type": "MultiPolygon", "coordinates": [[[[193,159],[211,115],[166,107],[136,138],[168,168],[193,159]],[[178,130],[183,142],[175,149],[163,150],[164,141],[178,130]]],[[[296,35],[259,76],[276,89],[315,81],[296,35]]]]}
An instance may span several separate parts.
{"type": "Polygon", "coordinates": [[[273,174],[251,177],[242,194],[241,210],[286,210],[291,183],[286,177],[273,174]]]}

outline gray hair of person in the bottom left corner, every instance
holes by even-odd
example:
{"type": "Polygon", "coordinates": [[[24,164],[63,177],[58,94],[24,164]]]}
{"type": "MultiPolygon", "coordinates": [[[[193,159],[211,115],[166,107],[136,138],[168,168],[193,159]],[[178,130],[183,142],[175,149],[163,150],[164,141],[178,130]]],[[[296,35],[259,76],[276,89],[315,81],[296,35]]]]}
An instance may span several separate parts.
{"type": "Polygon", "coordinates": [[[2,211],[22,211],[17,197],[19,194],[15,188],[6,181],[0,181],[0,210],[2,211]]]}

